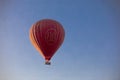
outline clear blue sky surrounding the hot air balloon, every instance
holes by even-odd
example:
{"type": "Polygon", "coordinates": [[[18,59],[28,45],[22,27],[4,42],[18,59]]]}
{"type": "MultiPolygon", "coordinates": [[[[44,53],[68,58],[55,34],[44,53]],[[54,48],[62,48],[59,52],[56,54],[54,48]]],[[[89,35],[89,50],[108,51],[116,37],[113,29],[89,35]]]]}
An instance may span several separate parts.
{"type": "Polygon", "coordinates": [[[0,0],[0,80],[120,80],[119,0],[0,0]],[[50,66],[29,40],[38,20],[65,40],[50,66]]]}

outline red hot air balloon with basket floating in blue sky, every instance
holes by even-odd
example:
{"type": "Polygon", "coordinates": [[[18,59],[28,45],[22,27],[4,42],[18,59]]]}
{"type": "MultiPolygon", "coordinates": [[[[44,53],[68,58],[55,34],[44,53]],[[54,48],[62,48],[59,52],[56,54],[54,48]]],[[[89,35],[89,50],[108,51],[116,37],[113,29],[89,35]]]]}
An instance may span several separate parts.
{"type": "Polygon", "coordinates": [[[43,19],[32,25],[29,32],[30,41],[50,65],[52,56],[64,41],[65,31],[56,20],[43,19]]]}

